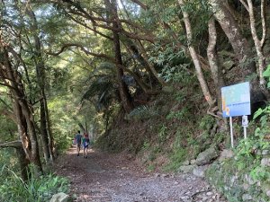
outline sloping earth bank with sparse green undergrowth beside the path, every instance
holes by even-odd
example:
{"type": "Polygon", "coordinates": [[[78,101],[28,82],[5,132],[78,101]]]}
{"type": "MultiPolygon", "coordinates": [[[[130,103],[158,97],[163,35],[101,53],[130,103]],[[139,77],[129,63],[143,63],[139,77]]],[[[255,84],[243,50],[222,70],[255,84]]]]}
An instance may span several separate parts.
{"type": "Polygon", "coordinates": [[[173,83],[166,86],[166,92],[118,117],[96,146],[137,154],[148,171],[177,171],[185,160],[195,158],[211,144],[220,144],[223,134],[212,136],[216,119],[205,115],[207,103],[202,101],[195,77],[186,72],[170,76],[173,83]]]}

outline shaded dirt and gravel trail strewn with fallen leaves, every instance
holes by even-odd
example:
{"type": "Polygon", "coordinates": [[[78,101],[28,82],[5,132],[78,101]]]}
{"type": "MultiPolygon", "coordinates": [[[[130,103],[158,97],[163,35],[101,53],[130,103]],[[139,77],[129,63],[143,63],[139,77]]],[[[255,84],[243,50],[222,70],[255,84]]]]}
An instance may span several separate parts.
{"type": "Polygon", "coordinates": [[[190,174],[148,173],[123,154],[90,150],[88,158],[68,150],[56,171],[71,180],[71,194],[85,202],[225,202],[202,179],[190,174]]]}

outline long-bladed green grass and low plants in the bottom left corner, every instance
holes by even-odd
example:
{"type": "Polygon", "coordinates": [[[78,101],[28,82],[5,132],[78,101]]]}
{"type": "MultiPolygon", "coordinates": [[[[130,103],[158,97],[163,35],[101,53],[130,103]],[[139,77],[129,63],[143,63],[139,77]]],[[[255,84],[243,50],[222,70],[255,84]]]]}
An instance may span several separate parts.
{"type": "Polygon", "coordinates": [[[29,172],[29,180],[23,181],[17,173],[6,166],[1,171],[0,201],[48,202],[59,192],[68,193],[66,178],[49,173],[40,177],[29,172]]]}

